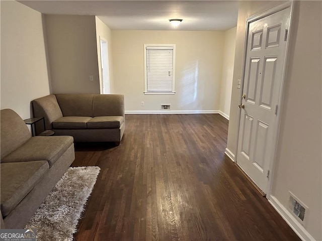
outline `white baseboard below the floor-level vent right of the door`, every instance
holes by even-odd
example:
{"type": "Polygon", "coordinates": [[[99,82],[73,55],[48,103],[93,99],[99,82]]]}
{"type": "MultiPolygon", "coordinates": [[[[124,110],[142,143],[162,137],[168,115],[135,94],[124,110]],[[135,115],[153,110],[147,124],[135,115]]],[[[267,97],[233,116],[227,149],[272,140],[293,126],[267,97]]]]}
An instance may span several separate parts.
{"type": "Polygon", "coordinates": [[[293,229],[293,231],[303,241],[315,241],[314,237],[306,231],[306,229],[293,217],[293,215],[277,200],[276,197],[270,196],[269,203],[275,208],[275,210],[282,216],[287,224],[293,229]]]}

